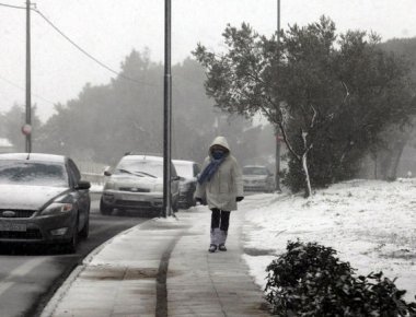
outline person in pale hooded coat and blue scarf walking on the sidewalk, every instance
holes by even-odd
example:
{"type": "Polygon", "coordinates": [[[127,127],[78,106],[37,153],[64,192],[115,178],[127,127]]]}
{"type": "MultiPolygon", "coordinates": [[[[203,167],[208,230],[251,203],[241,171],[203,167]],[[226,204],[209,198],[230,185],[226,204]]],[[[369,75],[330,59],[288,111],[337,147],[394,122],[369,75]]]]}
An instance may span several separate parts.
{"type": "Polygon", "coordinates": [[[244,199],[240,166],[230,153],[224,137],[217,137],[209,146],[195,190],[195,200],[211,210],[209,251],[227,251],[226,240],[230,213],[244,199]]]}

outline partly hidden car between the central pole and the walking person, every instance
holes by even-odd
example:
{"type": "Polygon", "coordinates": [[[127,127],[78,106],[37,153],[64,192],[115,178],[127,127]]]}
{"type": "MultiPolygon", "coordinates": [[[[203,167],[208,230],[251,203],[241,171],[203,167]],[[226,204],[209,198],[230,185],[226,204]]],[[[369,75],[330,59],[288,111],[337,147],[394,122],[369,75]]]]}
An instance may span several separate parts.
{"type": "Polygon", "coordinates": [[[193,161],[173,160],[180,178],[180,208],[188,209],[195,206],[194,192],[196,189],[196,177],[200,166],[193,161]]]}

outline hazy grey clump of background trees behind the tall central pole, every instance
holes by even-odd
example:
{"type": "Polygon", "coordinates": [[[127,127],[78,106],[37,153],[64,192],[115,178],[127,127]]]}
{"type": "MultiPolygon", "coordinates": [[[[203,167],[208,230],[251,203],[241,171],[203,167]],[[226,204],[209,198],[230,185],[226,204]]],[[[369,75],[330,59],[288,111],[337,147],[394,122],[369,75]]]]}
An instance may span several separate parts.
{"type": "MultiPolygon", "coordinates": [[[[221,118],[215,126],[223,114],[206,96],[204,69],[196,60],[185,59],[172,73],[173,157],[203,162],[216,133],[241,136],[250,121],[221,118]]],[[[149,50],[132,50],[108,84],[85,84],[77,98],[56,105],[42,129],[43,150],[105,164],[129,151],[162,153],[162,78],[163,66],[151,61],[149,50]]],[[[234,148],[239,138],[229,141],[234,148]]]]}

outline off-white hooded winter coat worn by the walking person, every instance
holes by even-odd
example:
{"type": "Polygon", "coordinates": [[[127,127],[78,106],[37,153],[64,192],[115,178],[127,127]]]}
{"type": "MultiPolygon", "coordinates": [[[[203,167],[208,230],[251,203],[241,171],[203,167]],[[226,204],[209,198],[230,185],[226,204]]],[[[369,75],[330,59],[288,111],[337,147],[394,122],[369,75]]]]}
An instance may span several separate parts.
{"type": "Polygon", "coordinates": [[[211,156],[211,146],[221,145],[229,152],[210,180],[197,183],[195,197],[207,201],[208,208],[218,208],[226,211],[236,210],[236,197],[243,197],[243,178],[239,164],[230,153],[230,146],[224,137],[217,137],[209,146],[208,156],[203,164],[203,171],[208,166],[211,156]]]}

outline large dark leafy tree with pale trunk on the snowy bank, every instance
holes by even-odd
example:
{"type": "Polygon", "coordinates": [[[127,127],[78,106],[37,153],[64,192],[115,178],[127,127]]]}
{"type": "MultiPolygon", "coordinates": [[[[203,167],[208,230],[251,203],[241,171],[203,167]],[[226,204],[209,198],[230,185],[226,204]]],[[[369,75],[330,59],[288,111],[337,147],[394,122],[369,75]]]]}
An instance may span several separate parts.
{"type": "Polygon", "coordinates": [[[217,56],[198,45],[207,94],[216,106],[247,117],[262,113],[289,150],[287,181],[293,190],[351,177],[383,127],[408,120],[407,64],[377,48],[379,38],[348,32],[337,42],[325,16],[276,37],[247,24],[223,33],[228,47],[217,56]],[[278,75],[277,75],[278,74],[278,75]]]}

